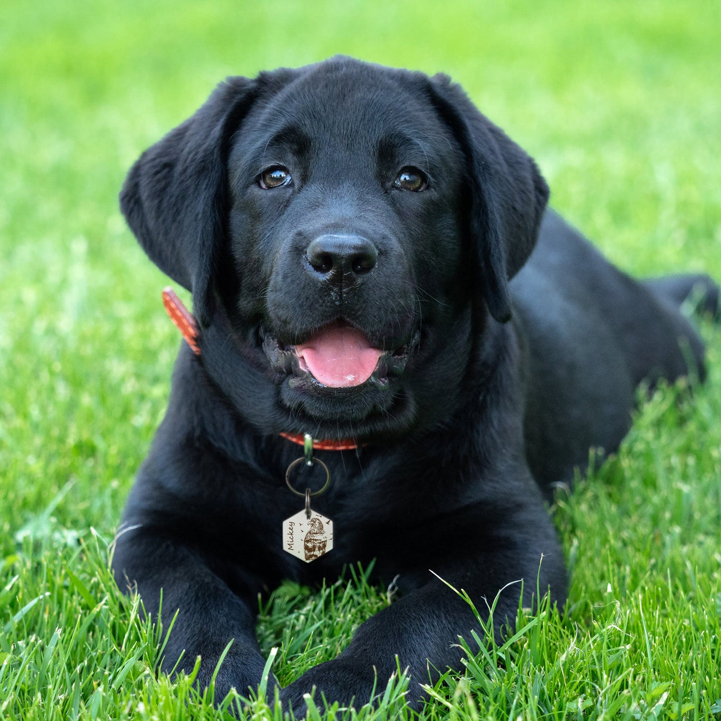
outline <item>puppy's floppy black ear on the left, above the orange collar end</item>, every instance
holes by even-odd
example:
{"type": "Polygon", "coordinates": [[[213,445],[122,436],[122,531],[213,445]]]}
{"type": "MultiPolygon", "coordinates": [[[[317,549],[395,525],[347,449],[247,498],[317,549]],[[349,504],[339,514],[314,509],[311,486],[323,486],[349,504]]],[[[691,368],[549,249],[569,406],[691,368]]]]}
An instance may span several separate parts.
{"type": "Polygon", "coordinates": [[[207,326],[211,278],[226,232],[229,141],[257,97],[257,81],[227,79],[193,117],[151,146],[133,165],[120,210],[150,259],[193,293],[207,326]]]}

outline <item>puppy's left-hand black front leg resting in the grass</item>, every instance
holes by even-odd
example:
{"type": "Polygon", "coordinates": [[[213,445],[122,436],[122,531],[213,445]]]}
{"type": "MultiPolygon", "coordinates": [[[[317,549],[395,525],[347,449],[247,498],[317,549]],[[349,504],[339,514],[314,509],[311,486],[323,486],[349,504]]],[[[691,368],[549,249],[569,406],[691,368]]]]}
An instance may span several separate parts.
{"type": "MultiPolygon", "coordinates": [[[[216,703],[231,686],[241,694],[247,694],[249,687],[257,691],[265,661],[255,637],[252,599],[244,601],[236,595],[198,549],[182,544],[167,531],[128,526],[118,534],[113,567],[120,588],[132,590],[137,585],[146,613],[156,616],[162,603],[164,632],[177,611],[163,671],[175,668],[176,673],[190,673],[200,656],[196,683],[203,689],[232,641],[216,677],[216,703]]],[[[271,676],[271,697],[274,684],[271,676]]]]}

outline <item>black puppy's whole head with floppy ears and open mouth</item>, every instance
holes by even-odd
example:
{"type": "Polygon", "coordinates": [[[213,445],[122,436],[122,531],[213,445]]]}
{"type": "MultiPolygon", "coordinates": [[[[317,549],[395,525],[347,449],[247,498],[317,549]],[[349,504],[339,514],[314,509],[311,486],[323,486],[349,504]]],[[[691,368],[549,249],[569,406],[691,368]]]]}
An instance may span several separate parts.
{"type": "Polygon", "coordinates": [[[473,329],[509,319],[547,198],[446,76],[333,58],[228,79],[120,204],[201,329],[229,319],[237,373],[273,404],[247,420],[368,438],[459,401],[473,329]]]}

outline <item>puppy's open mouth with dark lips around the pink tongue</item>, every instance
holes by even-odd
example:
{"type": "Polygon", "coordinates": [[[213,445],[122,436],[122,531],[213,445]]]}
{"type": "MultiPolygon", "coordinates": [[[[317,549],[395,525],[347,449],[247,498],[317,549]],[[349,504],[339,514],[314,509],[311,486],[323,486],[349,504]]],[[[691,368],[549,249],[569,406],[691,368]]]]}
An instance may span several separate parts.
{"type": "Polygon", "coordinates": [[[339,320],[317,329],[304,342],[286,345],[261,329],[262,345],[273,370],[291,376],[291,387],[307,384],[324,388],[353,388],[364,384],[385,388],[389,376],[406,366],[411,342],[393,350],[374,348],[366,335],[339,320]]]}

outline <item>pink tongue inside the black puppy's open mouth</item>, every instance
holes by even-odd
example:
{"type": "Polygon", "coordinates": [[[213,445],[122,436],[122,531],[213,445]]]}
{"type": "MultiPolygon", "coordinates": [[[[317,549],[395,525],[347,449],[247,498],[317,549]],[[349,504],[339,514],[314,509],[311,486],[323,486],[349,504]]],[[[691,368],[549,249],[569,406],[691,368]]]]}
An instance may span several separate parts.
{"type": "Polygon", "coordinates": [[[301,367],[305,363],[317,381],[333,388],[365,383],[382,354],[382,350],[371,348],[360,330],[347,325],[321,329],[308,342],[296,345],[301,367]]]}

